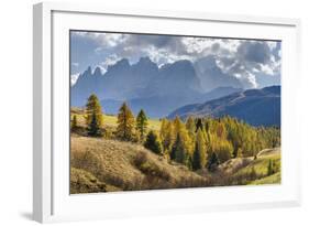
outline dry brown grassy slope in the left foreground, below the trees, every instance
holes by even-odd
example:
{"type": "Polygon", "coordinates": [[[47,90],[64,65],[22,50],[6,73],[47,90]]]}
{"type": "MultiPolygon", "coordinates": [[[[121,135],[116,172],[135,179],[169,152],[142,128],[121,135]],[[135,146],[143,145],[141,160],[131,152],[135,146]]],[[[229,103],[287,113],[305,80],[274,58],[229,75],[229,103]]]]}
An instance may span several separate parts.
{"type": "Polygon", "coordinates": [[[100,186],[100,192],[106,192],[203,186],[207,183],[205,177],[186,166],[168,162],[140,144],[115,140],[71,136],[70,163],[74,169],[82,170],[76,174],[85,174],[71,176],[71,193],[79,193],[78,187],[81,192],[85,190],[82,183],[76,186],[76,181],[81,182],[78,176],[95,192],[100,186]]]}

